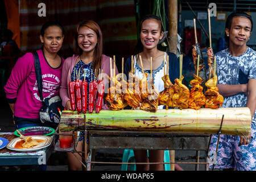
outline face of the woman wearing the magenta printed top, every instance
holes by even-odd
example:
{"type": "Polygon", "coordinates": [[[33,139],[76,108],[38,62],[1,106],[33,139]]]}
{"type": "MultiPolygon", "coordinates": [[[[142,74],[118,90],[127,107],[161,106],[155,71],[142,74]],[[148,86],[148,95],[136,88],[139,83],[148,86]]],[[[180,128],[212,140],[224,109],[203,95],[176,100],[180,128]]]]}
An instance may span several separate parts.
{"type": "Polygon", "coordinates": [[[57,53],[63,44],[64,35],[60,27],[51,26],[44,31],[44,35],[40,35],[40,40],[44,44],[44,51],[48,53],[57,53]]]}

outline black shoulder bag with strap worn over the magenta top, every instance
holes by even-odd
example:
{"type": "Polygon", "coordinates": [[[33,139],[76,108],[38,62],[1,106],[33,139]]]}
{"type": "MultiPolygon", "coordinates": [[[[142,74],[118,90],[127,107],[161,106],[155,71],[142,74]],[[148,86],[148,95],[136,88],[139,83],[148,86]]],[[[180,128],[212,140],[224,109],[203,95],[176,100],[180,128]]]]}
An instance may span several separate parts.
{"type": "Polygon", "coordinates": [[[43,106],[40,109],[40,121],[42,123],[46,123],[46,122],[59,123],[60,113],[57,110],[57,108],[59,108],[61,111],[64,109],[61,103],[61,99],[59,96],[54,96],[51,98],[43,98],[43,79],[42,79],[39,56],[37,52],[34,52],[34,60],[35,60],[36,81],[38,82],[38,92],[39,92],[40,99],[43,101],[43,106]]]}

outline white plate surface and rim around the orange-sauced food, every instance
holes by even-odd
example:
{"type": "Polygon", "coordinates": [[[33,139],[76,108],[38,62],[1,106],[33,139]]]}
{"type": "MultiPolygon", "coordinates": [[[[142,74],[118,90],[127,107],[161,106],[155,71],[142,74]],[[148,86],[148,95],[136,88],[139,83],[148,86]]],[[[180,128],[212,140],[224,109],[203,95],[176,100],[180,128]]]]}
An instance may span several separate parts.
{"type": "Polygon", "coordinates": [[[32,137],[33,139],[45,140],[45,142],[41,142],[37,146],[30,147],[30,148],[14,148],[15,144],[18,141],[22,140],[20,138],[14,138],[13,140],[11,140],[11,142],[9,144],[7,144],[6,148],[8,148],[10,150],[14,150],[14,151],[19,151],[19,152],[32,152],[32,151],[37,151],[42,148],[48,147],[52,142],[51,137],[43,136],[43,135],[34,135],[34,136],[26,136],[26,137],[32,137]]]}

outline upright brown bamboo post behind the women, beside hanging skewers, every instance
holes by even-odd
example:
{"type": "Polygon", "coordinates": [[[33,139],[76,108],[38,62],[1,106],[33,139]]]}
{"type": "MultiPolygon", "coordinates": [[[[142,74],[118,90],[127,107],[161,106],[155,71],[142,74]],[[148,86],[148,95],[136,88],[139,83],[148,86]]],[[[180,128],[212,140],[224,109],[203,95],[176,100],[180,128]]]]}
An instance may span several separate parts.
{"type": "Polygon", "coordinates": [[[170,44],[170,52],[175,53],[177,55],[177,0],[169,0],[168,1],[168,19],[169,21],[169,44],[170,44]]]}

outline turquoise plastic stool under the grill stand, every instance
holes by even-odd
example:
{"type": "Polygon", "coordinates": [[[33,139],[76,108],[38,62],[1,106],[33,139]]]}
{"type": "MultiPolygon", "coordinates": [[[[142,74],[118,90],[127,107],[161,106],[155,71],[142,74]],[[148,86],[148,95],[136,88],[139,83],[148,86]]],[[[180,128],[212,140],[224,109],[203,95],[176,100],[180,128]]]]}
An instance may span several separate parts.
{"type": "MultiPolygon", "coordinates": [[[[147,150],[147,156],[148,156],[148,150],[147,150]]],[[[122,163],[128,163],[130,159],[131,159],[131,163],[135,163],[134,152],[131,149],[125,149],[125,151],[123,151],[122,163]]],[[[168,150],[164,151],[164,163],[170,163],[170,155],[168,150]]],[[[127,166],[128,166],[127,164],[122,164],[121,171],[127,171],[127,166]]],[[[164,164],[164,169],[165,171],[170,171],[171,170],[170,164],[164,164]]],[[[136,164],[131,164],[130,171],[136,171],[136,164]]]]}

